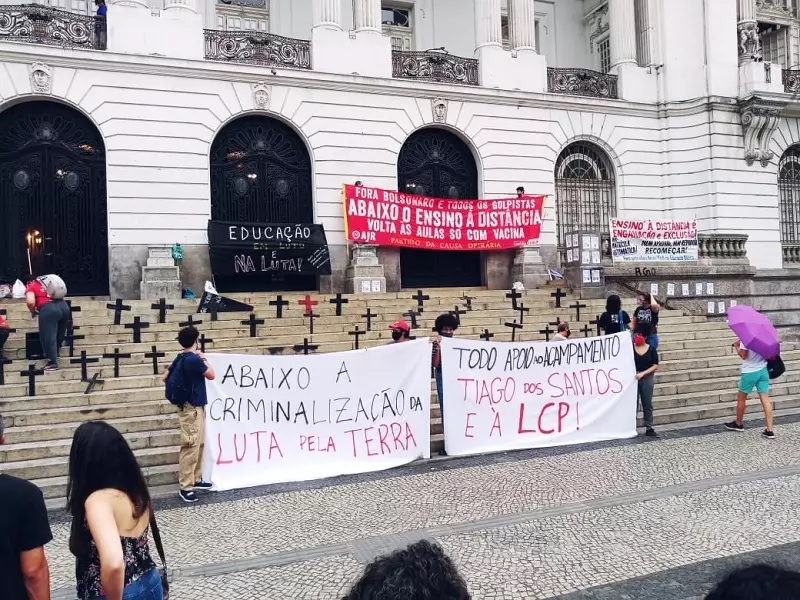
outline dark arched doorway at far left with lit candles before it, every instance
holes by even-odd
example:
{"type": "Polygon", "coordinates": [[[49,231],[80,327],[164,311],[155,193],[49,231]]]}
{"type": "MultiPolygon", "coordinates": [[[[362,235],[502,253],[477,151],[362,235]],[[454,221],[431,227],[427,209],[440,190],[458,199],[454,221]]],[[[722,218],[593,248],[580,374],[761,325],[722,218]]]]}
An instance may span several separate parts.
{"type": "Polygon", "coordinates": [[[71,295],[108,294],[105,145],[57,102],[0,112],[0,277],[29,268],[61,275],[71,295]]]}

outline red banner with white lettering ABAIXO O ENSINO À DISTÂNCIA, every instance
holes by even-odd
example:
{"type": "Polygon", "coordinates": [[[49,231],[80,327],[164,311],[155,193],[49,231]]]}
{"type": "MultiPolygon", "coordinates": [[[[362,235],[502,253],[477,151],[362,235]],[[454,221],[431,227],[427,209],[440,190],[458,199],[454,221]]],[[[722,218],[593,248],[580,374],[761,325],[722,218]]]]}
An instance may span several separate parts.
{"type": "Polygon", "coordinates": [[[347,238],[420,250],[504,250],[537,243],[544,196],[451,200],[344,186],[347,238]]]}

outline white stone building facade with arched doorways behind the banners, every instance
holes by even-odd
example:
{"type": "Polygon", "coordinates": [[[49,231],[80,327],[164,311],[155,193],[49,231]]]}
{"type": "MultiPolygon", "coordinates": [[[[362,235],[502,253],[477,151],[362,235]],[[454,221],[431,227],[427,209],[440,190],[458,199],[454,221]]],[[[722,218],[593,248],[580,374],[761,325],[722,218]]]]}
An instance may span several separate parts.
{"type": "MultiPolygon", "coordinates": [[[[180,243],[196,290],[209,218],[315,222],[333,275],[287,288],[342,291],[356,180],[547,194],[552,268],[613,216],[800,266],[797,0],[156,1],[0,6],[0,276],[136,297],[180,243]]],[[[506,287],[515,259],[378,254],[389,289],[506,287]]]]}

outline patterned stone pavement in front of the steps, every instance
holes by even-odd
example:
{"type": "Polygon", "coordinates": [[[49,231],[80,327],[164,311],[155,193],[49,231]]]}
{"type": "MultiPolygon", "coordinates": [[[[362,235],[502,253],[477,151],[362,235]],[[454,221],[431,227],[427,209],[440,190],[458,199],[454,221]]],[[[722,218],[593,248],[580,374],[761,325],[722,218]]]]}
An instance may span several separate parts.
{"type": "MultiPolygon", "coordinates": [[[[796,420],[795,420],[796,421],[796,420]]],[[[340,598],[375,556],[441,543],[476,599],[694,600],[800,562],[800,423],[420,463],[159,506],[173,600],[340,598]]],[[[48,547],[74,598],[68,525],[48,547]]],[[[800,564],[794,565],[800,567],[800,564]]]]}

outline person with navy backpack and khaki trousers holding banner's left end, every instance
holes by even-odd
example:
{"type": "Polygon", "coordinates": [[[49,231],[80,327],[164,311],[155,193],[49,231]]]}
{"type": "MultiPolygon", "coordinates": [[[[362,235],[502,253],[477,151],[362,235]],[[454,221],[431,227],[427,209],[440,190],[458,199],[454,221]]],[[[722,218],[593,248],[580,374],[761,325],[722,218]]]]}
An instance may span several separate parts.
{"type": "Polygon", "coordinates": [[[183,352],[167,367],[162,380],[167,400],[178,408],[181,427],[181,450],[178,455],[178,495],[184,502],[197,502],[195,490],[210,490],[213,484],[203,481],[203,447],[205,437],[206,379],[216,375],[205,355],[197,348],[200,333],[184,327],[178,333],[183,352]]]}

